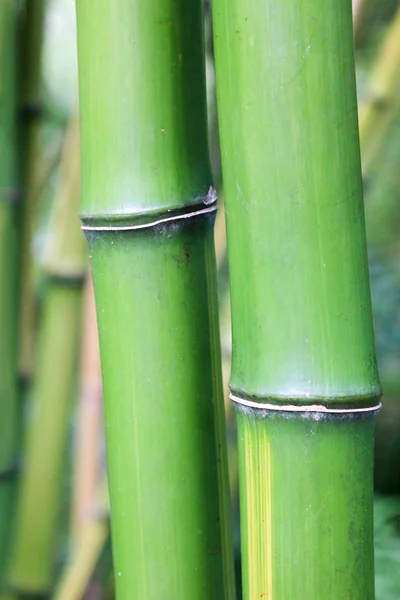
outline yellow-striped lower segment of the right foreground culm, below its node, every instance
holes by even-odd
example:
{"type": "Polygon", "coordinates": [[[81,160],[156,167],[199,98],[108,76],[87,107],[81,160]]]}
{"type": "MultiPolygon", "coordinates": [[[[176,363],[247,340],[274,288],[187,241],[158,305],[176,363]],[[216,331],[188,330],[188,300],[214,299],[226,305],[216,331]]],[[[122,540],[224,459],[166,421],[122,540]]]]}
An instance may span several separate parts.
{"type": "Polygon", "coordinates": [[[374,418],[237,422],[244,600],[373,600],[374,418]]]}

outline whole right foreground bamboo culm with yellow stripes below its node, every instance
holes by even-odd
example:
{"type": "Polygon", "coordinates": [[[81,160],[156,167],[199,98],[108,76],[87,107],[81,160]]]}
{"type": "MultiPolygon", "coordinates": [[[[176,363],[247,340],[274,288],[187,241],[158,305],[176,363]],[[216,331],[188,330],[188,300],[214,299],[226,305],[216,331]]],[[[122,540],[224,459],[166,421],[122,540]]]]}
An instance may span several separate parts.
{"type": "Polygon", "coordinates": [[[351,2],[215,0],[213,17],[244,598],[372,600],[381,389],[351,2]]]}

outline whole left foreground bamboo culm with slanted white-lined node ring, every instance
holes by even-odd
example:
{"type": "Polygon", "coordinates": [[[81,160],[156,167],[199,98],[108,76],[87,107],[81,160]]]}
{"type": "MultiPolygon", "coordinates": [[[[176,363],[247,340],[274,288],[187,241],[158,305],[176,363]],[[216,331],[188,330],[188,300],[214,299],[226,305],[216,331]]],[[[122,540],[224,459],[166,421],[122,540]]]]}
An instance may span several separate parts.
{"type": "Polygon", "coordinates": [[[233,598],[202,5],[76,7],[117,597],[233,598]]]}

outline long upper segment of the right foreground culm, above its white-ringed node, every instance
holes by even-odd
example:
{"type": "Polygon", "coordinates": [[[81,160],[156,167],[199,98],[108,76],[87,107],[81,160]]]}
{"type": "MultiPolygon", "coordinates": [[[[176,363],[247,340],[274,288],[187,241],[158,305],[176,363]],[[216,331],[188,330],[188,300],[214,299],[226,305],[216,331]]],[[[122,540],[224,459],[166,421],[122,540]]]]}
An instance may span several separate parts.
{"type": "Polygon", "coordinates": [[[213,9],[231,386],[276,401],[373,404],[351,2],[213,9]]]}

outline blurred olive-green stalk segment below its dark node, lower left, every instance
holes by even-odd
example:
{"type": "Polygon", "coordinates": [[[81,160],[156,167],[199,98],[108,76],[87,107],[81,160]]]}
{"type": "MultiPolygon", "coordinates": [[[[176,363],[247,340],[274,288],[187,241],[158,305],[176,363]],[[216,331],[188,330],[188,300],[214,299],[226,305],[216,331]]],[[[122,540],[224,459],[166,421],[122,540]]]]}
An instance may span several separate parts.
{"type": "Polygon", "coordinates": [[[27,594],[47,593],[54,578],[55,532],[74,391],[81,299],[80,287],[49,283],[8,570],[11,588],[27,594]]]}

